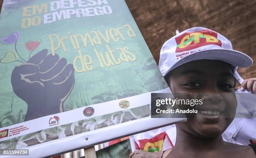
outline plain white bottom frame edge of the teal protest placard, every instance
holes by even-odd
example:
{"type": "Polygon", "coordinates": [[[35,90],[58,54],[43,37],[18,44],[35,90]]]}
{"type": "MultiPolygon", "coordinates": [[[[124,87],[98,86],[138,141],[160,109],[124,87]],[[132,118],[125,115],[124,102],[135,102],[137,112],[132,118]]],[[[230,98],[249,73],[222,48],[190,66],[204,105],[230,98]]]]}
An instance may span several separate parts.
{"type": "MultiPolygon", "coordinates": [[[[186,121],[186,118],[140,118],[125,123],[100,128],[65,138],[51,140],[23,149],[29,149],[28,156],[23,158],[38,158],[60,155],[81,148],[88,148],[93,145],[104,143],[110,140],[123,138],[128,135],[141,133],[143,131],[160,128],[177,122],[186,121]]],[[[17,156],[3,156],[3,158],[15,158],[17,156]]],[[[1,157],[2,158],[2,157],[1,157]]]]}

